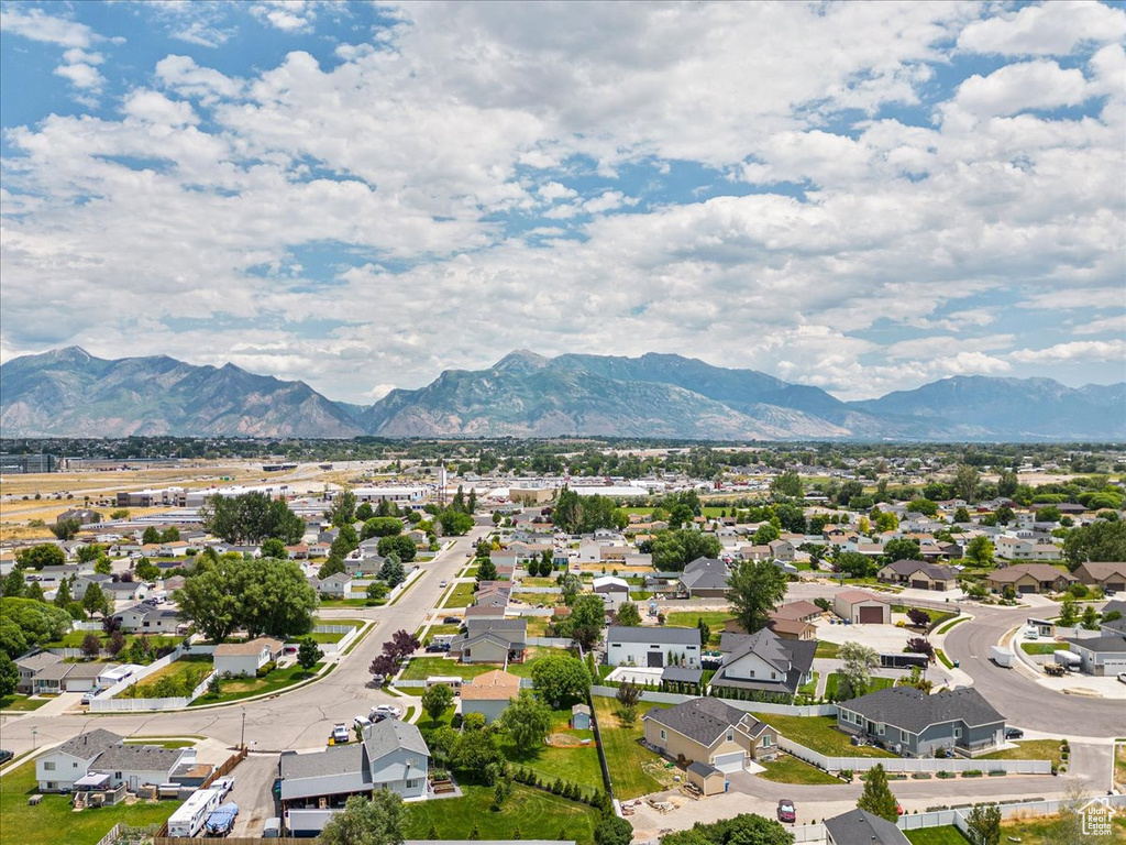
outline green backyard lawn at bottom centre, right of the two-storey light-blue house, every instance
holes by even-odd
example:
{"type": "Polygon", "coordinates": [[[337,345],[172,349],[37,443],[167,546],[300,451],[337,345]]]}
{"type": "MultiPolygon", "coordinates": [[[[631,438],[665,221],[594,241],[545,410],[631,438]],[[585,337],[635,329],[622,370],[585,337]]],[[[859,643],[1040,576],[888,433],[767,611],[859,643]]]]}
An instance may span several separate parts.
{"type": "Polygon", "coordinates": [[[519,831],[524,839],[563,838],[580,845],[595,840],[598,812],[587,804],[517,783],[500,812],[493,812],[492,786],[463,785],[462,790],[462,798],[406,804],[406,838],[427,838],[432,825],[439,839],[468,839],[476,828],[481,839],[512,839],[519,831]]]}

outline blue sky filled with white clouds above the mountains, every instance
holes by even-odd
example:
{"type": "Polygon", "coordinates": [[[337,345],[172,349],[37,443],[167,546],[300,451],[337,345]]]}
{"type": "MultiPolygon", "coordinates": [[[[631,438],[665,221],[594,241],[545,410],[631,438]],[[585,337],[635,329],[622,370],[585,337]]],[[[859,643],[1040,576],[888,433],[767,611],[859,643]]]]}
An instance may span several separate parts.
{"type": "Polygon", "coordinates": [[[3,359],[1126,377],[1121,3],[0,10],[3,359]]]}

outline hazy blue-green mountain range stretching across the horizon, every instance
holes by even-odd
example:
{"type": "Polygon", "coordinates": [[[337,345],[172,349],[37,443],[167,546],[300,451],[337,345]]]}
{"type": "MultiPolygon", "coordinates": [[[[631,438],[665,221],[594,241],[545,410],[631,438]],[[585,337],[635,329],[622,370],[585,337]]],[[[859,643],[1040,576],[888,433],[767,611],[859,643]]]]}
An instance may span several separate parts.
{"type": "Polygon", "coordinates": [[[301,381],[167,356],[97,358],[68,347],[0,366],[6,437],[555,437],[678,439],[1126,439],[1126,383],[953,376],[843,402],[820,388],[680,355],[527,350],[447,370],[372,406],[301,381]]]}

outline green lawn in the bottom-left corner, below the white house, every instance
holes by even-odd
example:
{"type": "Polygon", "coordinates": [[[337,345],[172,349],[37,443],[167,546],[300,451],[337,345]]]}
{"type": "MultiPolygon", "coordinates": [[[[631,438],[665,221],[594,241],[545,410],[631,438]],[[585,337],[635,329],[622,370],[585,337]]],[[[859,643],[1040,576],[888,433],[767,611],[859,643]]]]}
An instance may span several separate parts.
{"type": "Polygon", "coordinates": [[[66,795],[44,795],[37,807],[27,803],[35,793],[35,762],[29,760],[0,779],[0,819],[5,842],[20,845],[96,845],[114,825],[162,825],[178,801],[138,801],[132,806],[102,807],[74,812],[66,795]],[[18,833],[15,833],[18,831],[18,833]]]}

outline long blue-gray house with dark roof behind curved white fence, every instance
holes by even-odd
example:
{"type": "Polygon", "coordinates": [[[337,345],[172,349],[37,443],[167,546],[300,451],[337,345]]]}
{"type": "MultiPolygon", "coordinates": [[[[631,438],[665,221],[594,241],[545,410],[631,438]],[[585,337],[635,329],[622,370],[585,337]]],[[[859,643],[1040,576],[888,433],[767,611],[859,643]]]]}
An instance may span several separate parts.
{"type": "Polygon", "coordinates": [[[1004,744],[1004,717],[973,687],[933,695],[908,686],[878,690],[839,703],[837,727],[912,757],[944,748],[968,754],[1004,744]]]}

